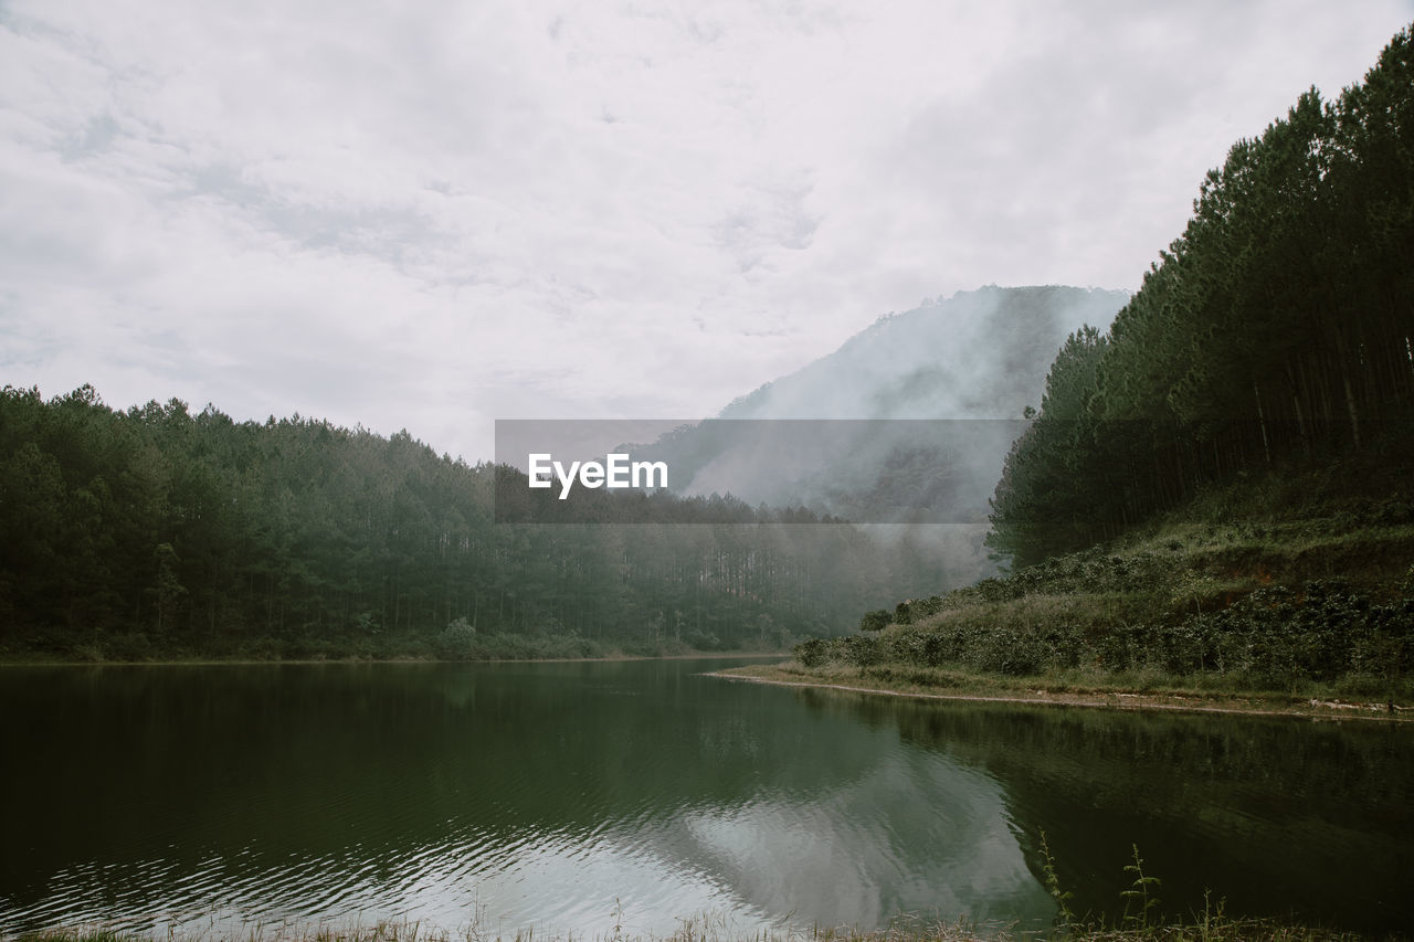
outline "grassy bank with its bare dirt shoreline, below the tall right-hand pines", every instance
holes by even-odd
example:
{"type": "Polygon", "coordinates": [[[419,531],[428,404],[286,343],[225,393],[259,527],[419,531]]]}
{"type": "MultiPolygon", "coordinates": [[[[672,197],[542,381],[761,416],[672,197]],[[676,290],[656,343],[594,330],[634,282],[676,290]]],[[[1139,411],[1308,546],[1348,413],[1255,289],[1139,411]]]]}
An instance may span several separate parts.
{"type": "Polygon", "coordinates": [[[1114,543],[870,612],[755,679],[911,694],[1398,716],[1414,498],[1346,464],[1213,488],[1114,543]],[[1352,484],[1359,481],[1359,485],[1352,484]]]}

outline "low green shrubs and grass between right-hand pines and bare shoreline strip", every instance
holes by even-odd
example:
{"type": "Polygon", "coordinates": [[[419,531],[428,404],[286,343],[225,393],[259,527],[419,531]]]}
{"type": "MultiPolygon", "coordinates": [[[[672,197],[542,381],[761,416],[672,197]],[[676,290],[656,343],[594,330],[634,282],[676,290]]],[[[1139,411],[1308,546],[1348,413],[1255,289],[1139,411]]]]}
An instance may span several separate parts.
{"type": "MultiPolygon", "coordinates": [[[[1333,477],[1369,477],[1362,467],[1333,477]]],[[[1401,560],[1414,559],[1414,528],[1383,523],[1404,501],[1350,502],[1338,488],[1302,498],[1309,519],[1244,519],[1273,487],[1229,487],[1148,537],[909,600],[911,624],[871,632],[875,646],[822,641],[800,663],[1342,690],[1381,702],[1408,690],[1414,566],[1401,560]],[[1331,571],[1348,576],[1305,576],[1331,571]]]]}

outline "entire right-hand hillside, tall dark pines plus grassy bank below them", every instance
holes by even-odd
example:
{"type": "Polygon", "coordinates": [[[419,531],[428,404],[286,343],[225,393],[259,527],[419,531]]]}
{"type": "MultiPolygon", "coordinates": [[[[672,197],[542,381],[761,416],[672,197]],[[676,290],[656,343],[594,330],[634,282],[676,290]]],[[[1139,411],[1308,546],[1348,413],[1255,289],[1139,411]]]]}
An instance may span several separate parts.
{"type": "Polygon", "coordinates": [[[1113,328],[1066,341],[993,499],[1012,574],[870,612],[797,670],[1393,707],[1414,693],[1410,468],[1404,30],[1335,103],[1312,89],[1234,144],[1113,328]]]}

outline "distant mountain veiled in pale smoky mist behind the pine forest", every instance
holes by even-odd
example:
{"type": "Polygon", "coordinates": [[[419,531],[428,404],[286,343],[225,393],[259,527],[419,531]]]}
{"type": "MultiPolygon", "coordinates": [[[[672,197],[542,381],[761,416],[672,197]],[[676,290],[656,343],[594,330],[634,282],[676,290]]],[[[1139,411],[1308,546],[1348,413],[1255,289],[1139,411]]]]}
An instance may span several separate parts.
{"type": "Polygon", "coordinates": [[[928,301],[635,455],[669,461],[689,495],[875,523],[978,521],[1056,351],[1128,297],[988,286],[928,301]]]}

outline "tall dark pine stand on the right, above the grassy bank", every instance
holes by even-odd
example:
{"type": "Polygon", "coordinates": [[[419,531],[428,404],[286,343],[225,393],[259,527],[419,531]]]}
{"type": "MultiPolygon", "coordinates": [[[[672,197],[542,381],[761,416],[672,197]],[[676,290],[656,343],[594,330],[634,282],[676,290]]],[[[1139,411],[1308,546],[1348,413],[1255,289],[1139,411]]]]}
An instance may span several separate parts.
{"type": "Polygon", "coordinates": [[[1073,334],[1012,446],[990,545],[1018,564],[1116,536],[1206,481],[1407,440],[1414,41],[1311,89],[1209,171],[1110,331],[1073,334]]]}

